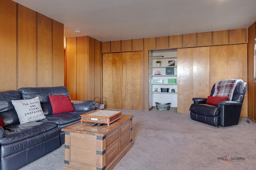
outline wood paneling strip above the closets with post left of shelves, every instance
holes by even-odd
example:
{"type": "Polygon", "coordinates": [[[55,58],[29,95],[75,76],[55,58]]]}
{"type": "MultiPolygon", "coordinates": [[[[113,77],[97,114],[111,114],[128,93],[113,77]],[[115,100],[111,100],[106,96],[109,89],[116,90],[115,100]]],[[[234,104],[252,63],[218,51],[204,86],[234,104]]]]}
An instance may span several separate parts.
{"type": "Polygon", "coordinates": [[[248,29],[232,29],[144,39],[102,42],[102,53],[144,50],[144,110],[148,102],[148,51],[248,43],[248,29]]]}

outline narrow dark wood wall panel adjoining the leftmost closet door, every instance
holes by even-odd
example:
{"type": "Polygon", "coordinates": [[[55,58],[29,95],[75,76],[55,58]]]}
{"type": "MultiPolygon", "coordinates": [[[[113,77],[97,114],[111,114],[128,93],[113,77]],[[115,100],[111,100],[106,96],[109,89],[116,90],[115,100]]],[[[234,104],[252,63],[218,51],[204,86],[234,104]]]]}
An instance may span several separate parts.
{"type": "Polygon", "coordinates": [[[102,97],[102,56],[101,42],[95,39],[95,97],[102,97]]]}

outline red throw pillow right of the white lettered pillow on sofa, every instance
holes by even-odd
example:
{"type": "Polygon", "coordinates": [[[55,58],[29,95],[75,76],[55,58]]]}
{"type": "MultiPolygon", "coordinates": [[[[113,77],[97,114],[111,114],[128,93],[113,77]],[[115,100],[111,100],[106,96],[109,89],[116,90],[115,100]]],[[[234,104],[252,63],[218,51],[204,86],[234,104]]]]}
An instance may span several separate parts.
{"type": "Polygon", "coordinates": [[[49,95],[49,99],[52,105],[52,114],[76,111],[70,101],[69,96],[49,95]]]}

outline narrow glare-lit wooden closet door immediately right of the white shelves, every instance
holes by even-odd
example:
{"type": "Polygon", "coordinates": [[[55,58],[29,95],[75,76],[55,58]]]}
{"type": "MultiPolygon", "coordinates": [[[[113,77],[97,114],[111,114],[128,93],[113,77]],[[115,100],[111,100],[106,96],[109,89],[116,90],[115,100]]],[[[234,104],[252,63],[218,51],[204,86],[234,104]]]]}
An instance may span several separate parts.
{"type": "Polygon", "coordinates": [[[178,113],[190,113],[193,103],[193,48],[177,51],[178,113]]]}

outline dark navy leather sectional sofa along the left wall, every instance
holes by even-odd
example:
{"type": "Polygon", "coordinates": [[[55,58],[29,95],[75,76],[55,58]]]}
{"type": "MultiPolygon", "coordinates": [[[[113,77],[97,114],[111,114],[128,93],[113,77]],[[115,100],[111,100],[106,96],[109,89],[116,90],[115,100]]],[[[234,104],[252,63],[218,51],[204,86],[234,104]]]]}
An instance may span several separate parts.
{"type": "Polygon", "coordinates": [[[80,114],[95,109],[94,101],[72,101],[76,111],[52,114],[49,95],[69,96],[66,87],[20,88],[0,92],[1,170],[16,170],[57,149],[64,143],[63,127],[80,121],[80,114]],[[46,118],[40,121],[20,124],[11,100],[39,97],[46,118]]]}

